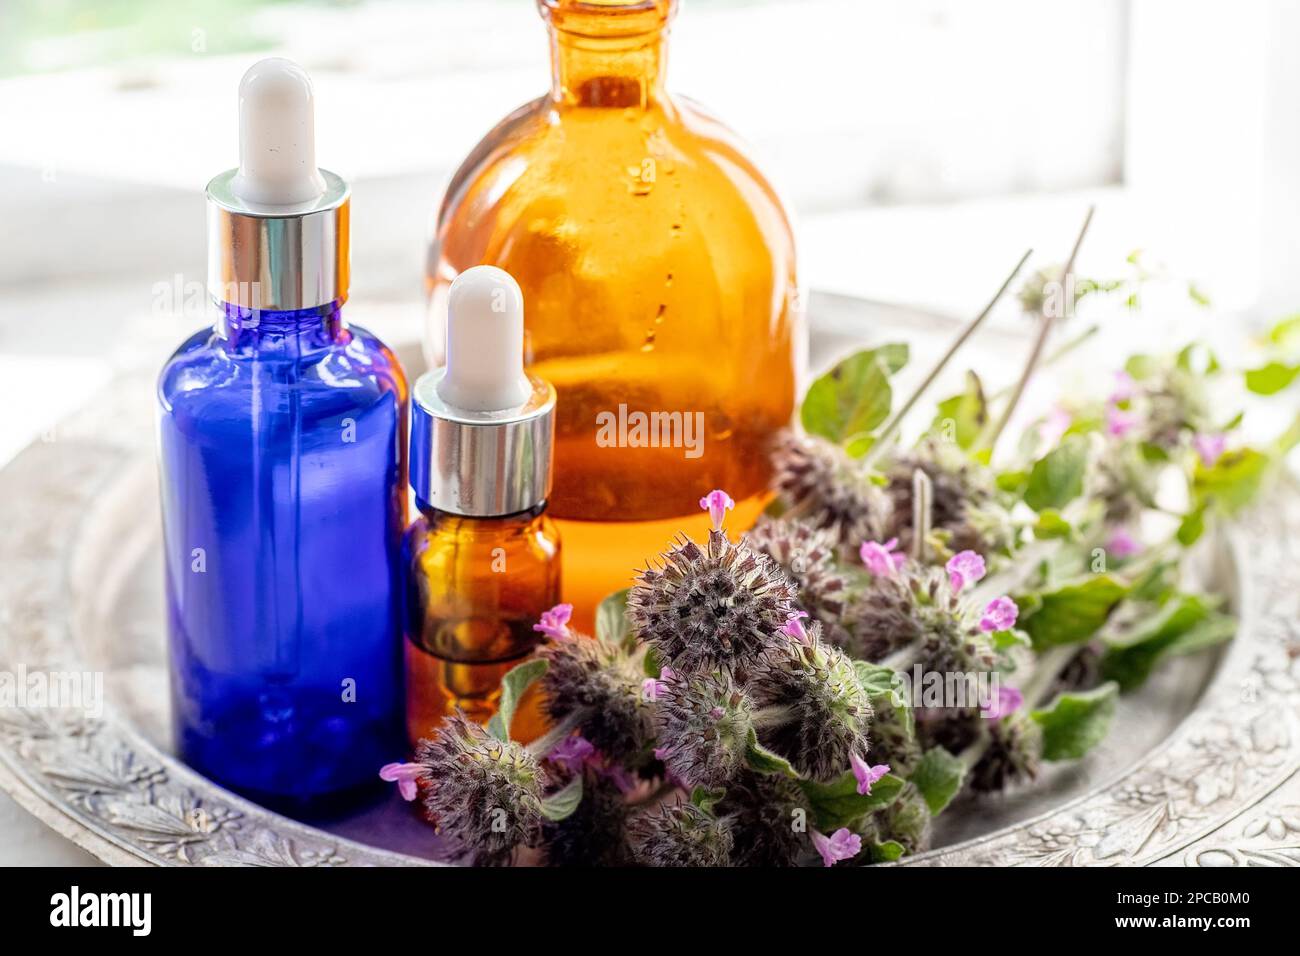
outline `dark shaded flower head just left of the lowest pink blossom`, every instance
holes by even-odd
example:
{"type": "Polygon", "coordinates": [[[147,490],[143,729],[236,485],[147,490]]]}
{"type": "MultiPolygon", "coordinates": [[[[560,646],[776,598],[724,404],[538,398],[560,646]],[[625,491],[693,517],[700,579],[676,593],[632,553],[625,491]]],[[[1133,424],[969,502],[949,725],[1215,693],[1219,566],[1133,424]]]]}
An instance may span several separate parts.
{"type": "Polygon", "coordinates": [[[741,774],[718,812],[732,821],[734,866],[794,866],[806,852],[807,800],[788,777],[741,774]]]}

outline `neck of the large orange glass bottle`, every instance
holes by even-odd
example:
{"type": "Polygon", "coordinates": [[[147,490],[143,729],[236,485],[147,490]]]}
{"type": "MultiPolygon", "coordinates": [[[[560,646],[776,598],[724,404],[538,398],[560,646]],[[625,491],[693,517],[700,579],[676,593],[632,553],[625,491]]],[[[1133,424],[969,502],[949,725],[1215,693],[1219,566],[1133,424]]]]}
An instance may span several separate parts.
{"type": "Polygon", "coordinates": [[[551,99],[645,109],[664,99],[676,0],[538,0],[551,39],[551,99]]]}

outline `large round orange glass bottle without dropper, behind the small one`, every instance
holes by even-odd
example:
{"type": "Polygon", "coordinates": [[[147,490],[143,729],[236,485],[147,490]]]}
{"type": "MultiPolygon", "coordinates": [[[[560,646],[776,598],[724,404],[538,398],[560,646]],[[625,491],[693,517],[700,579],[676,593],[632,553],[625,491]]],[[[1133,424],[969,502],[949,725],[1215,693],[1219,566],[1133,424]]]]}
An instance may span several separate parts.
{"type": "Polygon", "coordinates": [[[465,159],[429,252],[430,343],[464,269],[524,290],[525,362],[559,393],[550,514],[580,622],[679,531],[707,533],[708,490],[737,527],[758,515],[802,358],[779,199],[727,127],[664,91],[675,5],[540,0],[551,91],[465,159]]]}

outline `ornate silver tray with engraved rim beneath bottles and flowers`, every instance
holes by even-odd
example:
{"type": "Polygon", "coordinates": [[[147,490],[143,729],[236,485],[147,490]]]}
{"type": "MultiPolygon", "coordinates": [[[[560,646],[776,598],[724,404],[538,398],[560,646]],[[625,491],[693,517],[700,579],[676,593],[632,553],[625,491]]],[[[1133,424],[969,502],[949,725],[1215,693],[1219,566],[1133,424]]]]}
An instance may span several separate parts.
{"type": "MultiPolygon", "coordinates": [[[[836,345],[833,326],[814,352],[836,345]]],[[[430,864],[436,836],[395,795],[308,826],[172,756],[152,421],[152,375],[125,376],[0,471],[0,671],[105,675],[99,719],[0,708],[0,787],[112,864],[430,864]]],[[[904,865],[1300,865],[1295,486],[1204,563],[1240,615],[1236,640],[1122,698],[1087,760],[949,808],[937,848],[904,865]]]]}

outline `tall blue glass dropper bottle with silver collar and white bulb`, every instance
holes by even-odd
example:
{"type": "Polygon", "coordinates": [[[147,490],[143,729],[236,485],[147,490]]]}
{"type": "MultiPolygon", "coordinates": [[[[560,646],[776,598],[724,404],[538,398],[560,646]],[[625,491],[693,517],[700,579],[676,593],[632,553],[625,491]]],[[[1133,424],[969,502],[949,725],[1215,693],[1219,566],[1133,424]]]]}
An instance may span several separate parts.
{"type": "Polygon", "coordinates": [[[407,384],[343,321],[350,190],[313,124],[296,64],[244,74],[239,168],[208,185],[222,315],[159,380],[177,748],[298,816],[355,803],[403,748],[407,384]]]}

